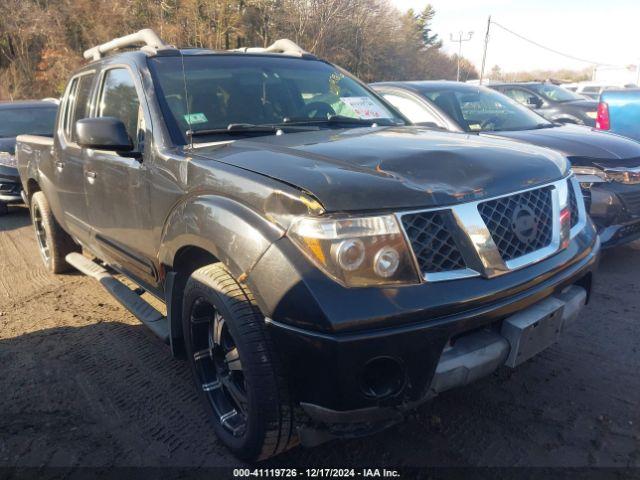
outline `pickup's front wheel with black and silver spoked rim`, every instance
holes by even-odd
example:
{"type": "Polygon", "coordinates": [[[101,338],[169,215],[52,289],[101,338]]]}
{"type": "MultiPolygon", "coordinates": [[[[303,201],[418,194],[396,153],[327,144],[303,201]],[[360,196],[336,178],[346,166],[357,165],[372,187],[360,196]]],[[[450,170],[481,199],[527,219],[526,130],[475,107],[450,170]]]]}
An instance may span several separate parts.
{"type": "Polygon", "coordinates": [[[222,443],[249,461],[296,445],[287,383],[248,288],[220,263],[196,270],[182,324],[196,388],[222,443]]]}

